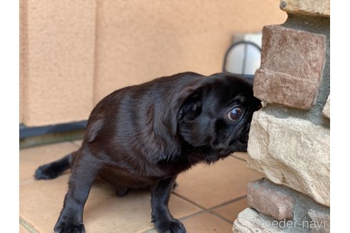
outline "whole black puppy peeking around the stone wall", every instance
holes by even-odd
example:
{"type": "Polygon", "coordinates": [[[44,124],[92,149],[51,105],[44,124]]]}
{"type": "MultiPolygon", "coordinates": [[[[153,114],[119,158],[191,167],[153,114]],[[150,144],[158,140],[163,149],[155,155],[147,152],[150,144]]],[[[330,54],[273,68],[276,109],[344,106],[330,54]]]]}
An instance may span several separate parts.
{"type": "Polygon", "coordinates": [[[36,179],[52,179],[71,168],[55,232],[85,232],[83,209],[97,175],[120,195],[152,187],[157,230],[186,232],[168,209],[176,176],[246,151],[259,108],[253,85],[227,73],[185,72],[112,92],[92,110],[79,150],[36,170],[36,179]]]}

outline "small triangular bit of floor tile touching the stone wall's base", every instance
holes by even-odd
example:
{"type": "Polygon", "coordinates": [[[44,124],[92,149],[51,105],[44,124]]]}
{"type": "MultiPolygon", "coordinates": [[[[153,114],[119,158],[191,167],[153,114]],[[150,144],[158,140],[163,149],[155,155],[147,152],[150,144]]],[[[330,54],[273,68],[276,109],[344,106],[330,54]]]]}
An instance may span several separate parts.
{"type": "Polygon", "coordinates": [[[226,220],[233,222],[237,218],[238,214],[247,207],[247,197],[243,197],[235,202],[230,202],[221,207],[216,207],[215,209],[211,210],[211,212],[214,212],[217,215],[224,217],[226,220]]]}

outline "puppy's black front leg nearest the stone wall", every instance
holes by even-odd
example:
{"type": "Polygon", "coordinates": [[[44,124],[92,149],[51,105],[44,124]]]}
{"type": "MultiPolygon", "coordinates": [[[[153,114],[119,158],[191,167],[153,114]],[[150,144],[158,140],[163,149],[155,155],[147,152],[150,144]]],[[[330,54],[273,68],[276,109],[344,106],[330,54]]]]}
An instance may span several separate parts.
{"type": "Polygon", "coordinates": [[[185,233],[184,224],[169,212],[168,202],[176,177],[159,180],[152,190],[152,222],[159,233],[185,233]]]}

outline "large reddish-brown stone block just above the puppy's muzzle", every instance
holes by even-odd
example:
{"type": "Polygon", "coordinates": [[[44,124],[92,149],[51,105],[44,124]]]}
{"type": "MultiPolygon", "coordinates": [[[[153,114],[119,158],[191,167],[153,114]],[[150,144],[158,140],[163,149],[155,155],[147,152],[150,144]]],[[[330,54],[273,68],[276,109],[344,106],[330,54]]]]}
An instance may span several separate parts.
{"type": "Polygon", "coordinates": [[[268,103],[309,109],[317,99],[326,37],[283,26],[265,26],[255,97],[268,103]]]}

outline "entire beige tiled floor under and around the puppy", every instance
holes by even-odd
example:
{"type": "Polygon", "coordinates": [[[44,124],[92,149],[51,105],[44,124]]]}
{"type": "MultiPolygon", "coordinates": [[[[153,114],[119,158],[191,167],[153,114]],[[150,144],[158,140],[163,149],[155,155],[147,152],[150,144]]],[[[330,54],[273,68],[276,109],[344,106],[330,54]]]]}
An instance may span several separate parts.
{"type": "MultiPolygon", "coordinates": [[[[68,188],[69,172],[55,180],[34,180],[43,163],[78,149],[80,141],[55,143],[20,151],[19,232],[53,232],[68,188]]],[[[235,153],[211,166],[197,165],[179,175],[169,208],[187,232],[232,232],[238,212],[247,207],[245,187],[261,176],[245,168],[245,153],[235,153]]],[[[85,229],[90,233],[154,233],[149,190],[117,197],[107,183],[96,182],[84,210],[85,229]]]]}

